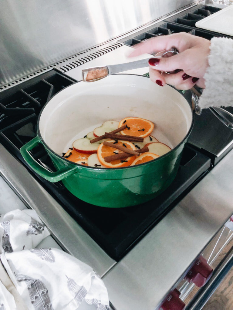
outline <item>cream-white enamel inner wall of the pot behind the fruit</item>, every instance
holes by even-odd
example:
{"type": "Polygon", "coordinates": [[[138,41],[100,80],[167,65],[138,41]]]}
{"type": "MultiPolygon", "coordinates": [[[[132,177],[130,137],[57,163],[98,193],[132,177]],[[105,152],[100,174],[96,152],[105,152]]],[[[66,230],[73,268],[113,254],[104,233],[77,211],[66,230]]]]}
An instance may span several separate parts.
{"type": "Polygon", "coordinates": [[[152,135],[171,148],[185,139],[192,125],[190,105],[173,87],[158,86],[145,76],[115,74],[57,93],[39,117],[39,134],[46,147],[61,156],[75,139],[103,122],[133,116],[154,122],[152,135]]]}

